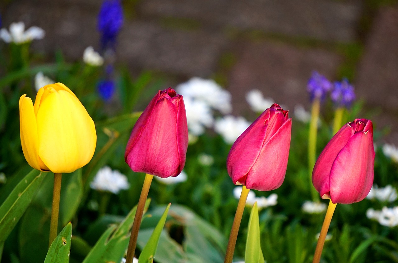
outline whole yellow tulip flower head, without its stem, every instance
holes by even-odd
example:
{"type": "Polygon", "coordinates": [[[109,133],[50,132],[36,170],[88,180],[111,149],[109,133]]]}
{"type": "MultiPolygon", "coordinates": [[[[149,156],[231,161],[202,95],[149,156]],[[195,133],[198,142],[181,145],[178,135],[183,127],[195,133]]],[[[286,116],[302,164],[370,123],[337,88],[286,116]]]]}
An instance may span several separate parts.
{"type": "Polygon", "coordinates": [[[41,171],[70,173],[86,165],[97,143],[94,121],[79,99],[62,83],[39,89],[35,104],[20,98],[23,155],[41,171]]]}

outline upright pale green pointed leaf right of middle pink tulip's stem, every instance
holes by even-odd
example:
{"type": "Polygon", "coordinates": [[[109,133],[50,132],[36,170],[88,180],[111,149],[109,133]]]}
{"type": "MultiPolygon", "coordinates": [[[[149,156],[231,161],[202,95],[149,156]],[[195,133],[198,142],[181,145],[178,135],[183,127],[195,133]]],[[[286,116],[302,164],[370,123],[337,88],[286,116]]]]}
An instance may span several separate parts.
{"type": "Polygon", "coordinates": [[[260,224],[258,219],[257,202],[250,213],[248,236],[246,239],[245,263],[264,263],[260,246],[260,224]]]}

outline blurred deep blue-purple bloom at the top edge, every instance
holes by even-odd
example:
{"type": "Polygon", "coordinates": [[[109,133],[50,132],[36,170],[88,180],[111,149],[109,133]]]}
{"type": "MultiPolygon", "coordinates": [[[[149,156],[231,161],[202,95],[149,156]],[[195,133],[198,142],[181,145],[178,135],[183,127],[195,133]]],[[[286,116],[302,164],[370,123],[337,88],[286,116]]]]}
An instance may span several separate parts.
{"type": "Polygon", "coordinates": [[[98,31],[102,48],[113,48],[117,34],[123,25],[123,8],[120,0],[104,0],[98,14],[98,31]]]}

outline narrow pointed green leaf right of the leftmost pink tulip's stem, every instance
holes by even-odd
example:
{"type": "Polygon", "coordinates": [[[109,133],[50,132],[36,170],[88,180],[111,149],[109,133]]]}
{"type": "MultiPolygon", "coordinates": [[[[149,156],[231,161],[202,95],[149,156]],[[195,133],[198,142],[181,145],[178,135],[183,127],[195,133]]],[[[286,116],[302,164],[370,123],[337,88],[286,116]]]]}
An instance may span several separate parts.
{"type": "Polygon", "coordinates": [[[156,249],[158,248],[160,234],[162,233],[164,223],[166,222],[170,205],[171,203],[168,204],[166,210],[164,210],[164,213],[160,218],[158,224],[156,225],[155,229],[153,230],[153,233],[150,236],[148,243],[146,243],[146,246],[144,247],[144,249],[142,249],[140,258],[138,259],[138,263],[153,262],[153,258],[156,254],[156,249]]]}

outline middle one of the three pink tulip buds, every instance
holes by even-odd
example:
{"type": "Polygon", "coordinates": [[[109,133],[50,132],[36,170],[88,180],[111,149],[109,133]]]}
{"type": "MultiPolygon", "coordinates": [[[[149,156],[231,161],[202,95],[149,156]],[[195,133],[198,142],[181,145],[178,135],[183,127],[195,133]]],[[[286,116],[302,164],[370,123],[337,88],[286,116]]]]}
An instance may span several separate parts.
{"type": "Polygon", "coordinates": [[[270,191],[283,183],[289,157],[292,119],[278,104],[266,109],[236,139],[226,166],[234,184],[270,191]]]}

